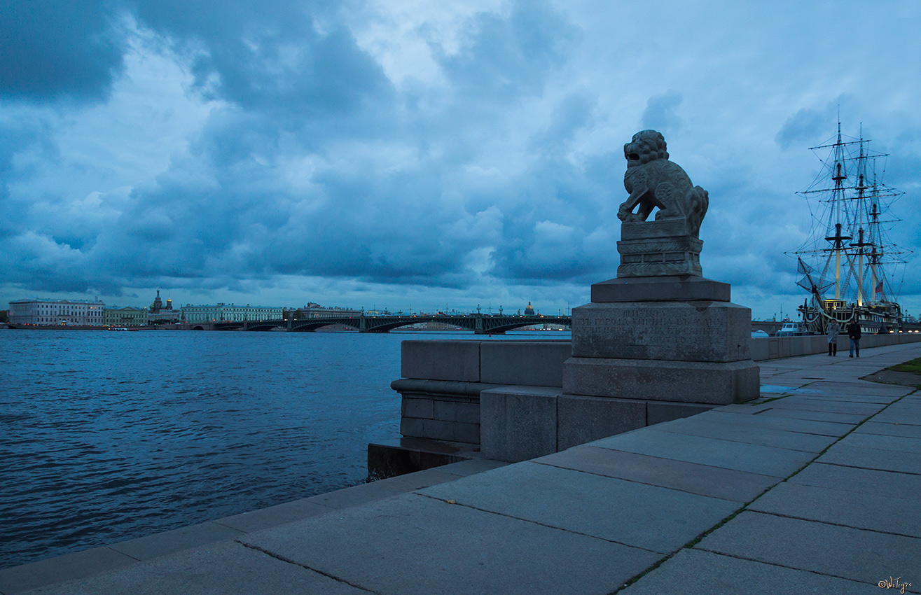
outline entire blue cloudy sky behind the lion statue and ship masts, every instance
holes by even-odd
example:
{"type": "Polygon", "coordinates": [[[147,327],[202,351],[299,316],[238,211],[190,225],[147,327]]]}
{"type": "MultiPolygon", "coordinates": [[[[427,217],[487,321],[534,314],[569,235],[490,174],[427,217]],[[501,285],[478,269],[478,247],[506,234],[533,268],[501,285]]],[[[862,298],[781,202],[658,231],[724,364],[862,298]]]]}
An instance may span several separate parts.
{"type": "Polygon", "coordinates": [[[556,313],[615,276],[656,128],[705,276],[771,317],[840,109],[892,155],[917,314],[919,6],[0,0],[0,301],[556,313]]]}

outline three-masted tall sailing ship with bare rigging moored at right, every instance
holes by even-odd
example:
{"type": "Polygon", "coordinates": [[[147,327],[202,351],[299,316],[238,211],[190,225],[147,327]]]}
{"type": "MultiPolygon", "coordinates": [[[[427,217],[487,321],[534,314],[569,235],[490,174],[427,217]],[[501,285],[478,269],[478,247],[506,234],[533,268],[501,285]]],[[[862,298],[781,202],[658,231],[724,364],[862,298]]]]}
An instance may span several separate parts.
{"type": "Polygon", "coordinates": [[[902,327],[898,292],[904,275],[904,251],[887,232],[898,219],[890,207],[902,192],[882,182],[887,155],[869,149],[869,140],[838,134],[810,150],[822,170],[805,191],[810,203],[810,238],[797,256],[797,285],[809,292],[799,307],[809,332],[824,333],[838,321],[852,321],[863,332],[892,332],[902,327]],[[833,142],[834,141],[834,142],[833,142]]]}

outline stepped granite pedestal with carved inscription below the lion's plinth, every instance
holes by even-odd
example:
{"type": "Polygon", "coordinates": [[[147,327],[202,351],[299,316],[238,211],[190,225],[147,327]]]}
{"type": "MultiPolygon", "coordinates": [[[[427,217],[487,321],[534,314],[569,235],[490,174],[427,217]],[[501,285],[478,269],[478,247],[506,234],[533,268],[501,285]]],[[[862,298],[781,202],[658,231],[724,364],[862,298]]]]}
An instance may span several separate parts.
{"type": "Polygon", "coordinates": [[[729,285],[694,274],[618,277],[573,309],[572,357],[563,364],[558,416],[565,447],[656,423],[653,403],[694,414],[759,394],[750,352],[752,311],[729,285]],[[580,406],[581,403],[581,406],[580,406]],[[610,420],[610,421],[609,421],[610,420]]]}

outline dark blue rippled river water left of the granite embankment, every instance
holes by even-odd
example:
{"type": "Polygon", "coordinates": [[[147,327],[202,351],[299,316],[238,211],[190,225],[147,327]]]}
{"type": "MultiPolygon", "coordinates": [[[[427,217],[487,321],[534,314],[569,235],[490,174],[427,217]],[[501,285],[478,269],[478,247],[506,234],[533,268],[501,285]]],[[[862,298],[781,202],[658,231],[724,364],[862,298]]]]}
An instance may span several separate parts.
{"type": "Polygon", "coordinates": [[[361,483],[410,338],[0,331],[0,568],[361,483]]]}

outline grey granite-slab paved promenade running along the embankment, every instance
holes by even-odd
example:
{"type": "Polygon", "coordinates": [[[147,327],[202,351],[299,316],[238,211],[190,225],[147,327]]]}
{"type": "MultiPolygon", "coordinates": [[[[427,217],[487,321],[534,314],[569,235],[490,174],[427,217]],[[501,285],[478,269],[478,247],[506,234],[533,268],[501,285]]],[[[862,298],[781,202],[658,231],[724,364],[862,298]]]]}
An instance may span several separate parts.
{"type": "Polygon", "coordinates": [[[29,593],[921,593],[921,396],[859,379],[919,356],[763,362],[755,404],[29,593]]]}

